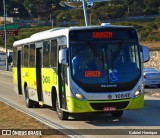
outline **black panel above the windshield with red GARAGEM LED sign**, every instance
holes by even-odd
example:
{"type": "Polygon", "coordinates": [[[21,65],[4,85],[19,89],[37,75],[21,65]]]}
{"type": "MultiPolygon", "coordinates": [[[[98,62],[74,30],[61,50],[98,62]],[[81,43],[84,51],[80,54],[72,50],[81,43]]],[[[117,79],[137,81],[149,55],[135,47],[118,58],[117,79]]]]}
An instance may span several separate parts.
{"type": "Polygon", "coordinates": [[[134,28],[102,28],[71,30],[70,41],[110,41],[110,40],[138,40],[137,32],[134,28]]]}

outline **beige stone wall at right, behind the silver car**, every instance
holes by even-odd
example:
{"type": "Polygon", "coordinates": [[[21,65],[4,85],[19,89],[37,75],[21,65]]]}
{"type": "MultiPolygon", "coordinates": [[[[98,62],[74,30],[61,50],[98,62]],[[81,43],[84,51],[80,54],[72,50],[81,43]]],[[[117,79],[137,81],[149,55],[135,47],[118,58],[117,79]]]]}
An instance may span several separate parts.
{"type": "Polygon", "coordinates": [[[145,67],[155,67],[160,71],[160,51],[150,51],[150,61],[144,64],[145,67]]]}

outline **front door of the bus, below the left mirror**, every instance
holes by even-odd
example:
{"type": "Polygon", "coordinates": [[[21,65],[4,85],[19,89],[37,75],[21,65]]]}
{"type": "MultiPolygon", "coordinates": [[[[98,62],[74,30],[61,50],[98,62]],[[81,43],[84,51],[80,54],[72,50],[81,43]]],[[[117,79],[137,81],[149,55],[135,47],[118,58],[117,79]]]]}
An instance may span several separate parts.
{"type": "Polygon", "coordinates": [[[66,84],[67,84],[67,65],[59,64],[58,69],[59,76],[59,98],[61,103],[61,108],[67,109],[66,103],[66,84]]]}

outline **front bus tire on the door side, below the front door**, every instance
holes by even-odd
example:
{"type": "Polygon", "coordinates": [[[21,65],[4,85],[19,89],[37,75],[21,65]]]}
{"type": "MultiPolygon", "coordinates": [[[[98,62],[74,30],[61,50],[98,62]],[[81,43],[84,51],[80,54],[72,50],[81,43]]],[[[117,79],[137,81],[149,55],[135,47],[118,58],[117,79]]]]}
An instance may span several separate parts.
{"type": "Polygon", "coordinates": [[[68,113],[68,112],[65,112],[65,111],[62,111],[62,110],[59,108],[58,98],[56,98],[56,112],[57,112],[58,118],[59,118],[60,120],[68,120],[69,113],[68,113]]]}

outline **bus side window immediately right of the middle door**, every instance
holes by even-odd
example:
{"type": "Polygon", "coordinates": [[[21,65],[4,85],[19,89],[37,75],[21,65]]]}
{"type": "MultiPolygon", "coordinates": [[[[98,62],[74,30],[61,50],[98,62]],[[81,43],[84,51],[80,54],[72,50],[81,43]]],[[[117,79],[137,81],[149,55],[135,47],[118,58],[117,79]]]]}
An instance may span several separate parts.
{"type": "Polygon", "coordinates": [[[43,67],[49,67],[50,42],[43,42],[43,67]]]}

